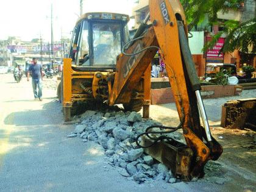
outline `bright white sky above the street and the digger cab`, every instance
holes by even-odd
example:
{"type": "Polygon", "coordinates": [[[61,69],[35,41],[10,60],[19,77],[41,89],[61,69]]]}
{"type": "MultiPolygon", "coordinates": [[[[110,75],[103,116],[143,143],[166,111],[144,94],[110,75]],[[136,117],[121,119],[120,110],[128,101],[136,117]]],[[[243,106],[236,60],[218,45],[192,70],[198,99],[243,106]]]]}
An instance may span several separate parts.
{"type": "MultiPolygon", "coordinates": [[[[71,38],[80,14],[80,0],[0,0],[0,40],[9,36],[23,41],[43,38],[51,41],[51,4],[54,41],[71,38]]],[[[131,15],[133,0],[83,0],[83,13],[116,12],[131,15]]]]}

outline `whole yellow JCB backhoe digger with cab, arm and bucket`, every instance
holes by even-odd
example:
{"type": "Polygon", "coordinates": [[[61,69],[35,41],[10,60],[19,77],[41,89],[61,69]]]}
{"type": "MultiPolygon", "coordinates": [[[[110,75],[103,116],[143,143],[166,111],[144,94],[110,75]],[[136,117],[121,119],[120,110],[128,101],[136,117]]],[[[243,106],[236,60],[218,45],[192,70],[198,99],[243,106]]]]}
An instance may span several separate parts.
{"type": "Polygon", "coordinates": [[[177,0],[149,0],[149,14],[132,40],[128,21],[128,15],[117,13],[86,13],[77,21],[69,58],[63,60],[60,84],[65,121],[78,101],[123,104],[125,110],[133,111],[143,107],[143,117],[148,118],[150,64],[160,49],[180,124],[154,126],[161,131],[148,127],[138,135],[137,144],[168,166],[176,177],[202,177],[205,163],[217,160],[222,147],[210,133],[182,5],[177,0]],[[149,20],[151,24],[147,24],[149,20]],[[183,130],[187,144],[168,137],[178,129],[183,130]]]}

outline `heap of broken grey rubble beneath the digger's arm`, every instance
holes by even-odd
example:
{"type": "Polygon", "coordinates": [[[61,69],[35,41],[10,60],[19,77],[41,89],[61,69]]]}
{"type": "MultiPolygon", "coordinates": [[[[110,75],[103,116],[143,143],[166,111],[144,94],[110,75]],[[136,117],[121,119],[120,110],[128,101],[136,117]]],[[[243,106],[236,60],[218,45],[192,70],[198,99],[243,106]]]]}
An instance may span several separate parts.
{"type": "MultiPolygon", "coordinates": [[[[88,110],[81,116],[74,132],[67,137],[80,137],[82,141],[101,144],[110,165],[117,167],[119,174],[137,183],[163,179],[174,183],[172,172],[162,163],[155,162],[138,148],[135,140],[138,134],[149,126],[162,125],[152,119],[142,119],[136,112],[96,112],[88,110]]],[[[176,139],[180,133],[172,133],[176,139]]]]}

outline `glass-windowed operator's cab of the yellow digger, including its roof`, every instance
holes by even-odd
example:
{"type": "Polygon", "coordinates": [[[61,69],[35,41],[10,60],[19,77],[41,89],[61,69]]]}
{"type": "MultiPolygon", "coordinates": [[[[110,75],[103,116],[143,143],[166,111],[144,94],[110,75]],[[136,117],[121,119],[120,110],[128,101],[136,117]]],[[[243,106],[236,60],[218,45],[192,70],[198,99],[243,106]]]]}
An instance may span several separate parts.
{"type": "Polygon", "coordinates": [[[85,13],[73,30],[69,58],[75,71],[116,68],[116,57],[129,41],[128,15],[85,13]]]}

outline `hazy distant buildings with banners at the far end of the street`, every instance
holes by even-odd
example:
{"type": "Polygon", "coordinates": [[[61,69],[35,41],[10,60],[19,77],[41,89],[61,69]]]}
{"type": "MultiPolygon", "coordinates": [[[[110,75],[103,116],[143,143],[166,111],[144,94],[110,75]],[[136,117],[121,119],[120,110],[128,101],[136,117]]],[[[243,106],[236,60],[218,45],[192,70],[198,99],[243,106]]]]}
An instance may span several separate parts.
{"type": "Polygon", "coordinates": [[[68,41],[56,42],[51,46],[36,39],[22,41],[18,37],[9,37],[7,40],[0,40],[0,65],[25,65],[26,60],[32,60],[33,57],[41,64],[52,63],[52,60],[60,63],[68,53],[68,45],[68,41]]]}

